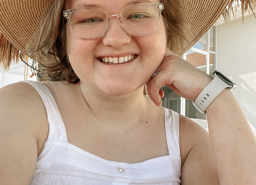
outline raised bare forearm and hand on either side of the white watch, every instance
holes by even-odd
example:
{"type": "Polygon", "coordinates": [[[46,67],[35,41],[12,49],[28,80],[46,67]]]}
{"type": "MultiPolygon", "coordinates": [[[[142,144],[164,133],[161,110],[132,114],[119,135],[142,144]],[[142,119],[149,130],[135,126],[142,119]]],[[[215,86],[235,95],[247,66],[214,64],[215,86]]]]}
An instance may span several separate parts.
{"type": "MultiPolygon", "coordinates": [[[[196,100],[212,80],[169,49],[156,71],[159,73],[147,82],[147,87],[149,97],[157,106],[162,103],[163,92],[159,88],[163,85],[183,98],[196,100]]],[[[256,184],[256,140],[233,94],[223,90],[206,109],[206,114],[220,184],[256,184]]]]}

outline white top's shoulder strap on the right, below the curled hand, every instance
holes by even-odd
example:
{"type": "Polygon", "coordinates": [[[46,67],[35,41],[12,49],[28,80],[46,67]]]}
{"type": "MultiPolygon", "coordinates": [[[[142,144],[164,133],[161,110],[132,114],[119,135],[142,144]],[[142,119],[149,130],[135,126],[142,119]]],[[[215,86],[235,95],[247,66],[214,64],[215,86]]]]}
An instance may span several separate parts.
{"type": "Polygon", "coordinates": [[[164,107],[165,132],[169,155],[180,156],[180,118],[177,112],[164,107]]]}

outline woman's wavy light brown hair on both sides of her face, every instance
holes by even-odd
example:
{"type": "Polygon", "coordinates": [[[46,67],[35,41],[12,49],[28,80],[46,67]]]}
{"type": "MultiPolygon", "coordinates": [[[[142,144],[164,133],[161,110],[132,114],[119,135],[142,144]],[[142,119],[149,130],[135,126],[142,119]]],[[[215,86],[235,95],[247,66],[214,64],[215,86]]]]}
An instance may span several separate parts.
{"type": "MultiPolygon", "coordinates": [[[[183,26],[185,18],[182,13],[181,1],[161,0],[164,3],[162,17],[166,30],[166,47],[174,53],[180,54],[182,50],[182,40],[185,39],[183,26]]],[[[47,80],[60,81],[67,80],[68,83],[78,83],[79,78],[73,71],[67,55],[66,31],[67,20],[62,15],[65,0],[55,0],[42,18],[34,38],[36,46],[30,43],[27,47],[28,53],[36,54],[41,52],[45,58],[37,57],[39,72],[41,77],[47,80]],[[49,60],[51,58],[51,60],[49,60]]],[[[146,88],[144,87],[144,94],[146,88]]]]}

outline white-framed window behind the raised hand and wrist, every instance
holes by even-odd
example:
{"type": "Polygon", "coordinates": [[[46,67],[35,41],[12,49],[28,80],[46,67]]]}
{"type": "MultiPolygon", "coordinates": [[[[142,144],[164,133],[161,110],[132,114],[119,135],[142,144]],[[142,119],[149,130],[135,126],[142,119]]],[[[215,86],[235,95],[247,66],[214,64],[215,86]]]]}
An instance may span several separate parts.
{"type": "MultiPolygon", "coordinates": [[[[216,69],[216,27],[212,26],[182,58],[198,69],[213,76],[213,71],[216,69]]],[[[162,98],[163,107],[186,115],[207,128],[206,115],[200,113],[196,107],[193,106],[191,100],[185,100],[166,86],[162,87],[162,90],[164,91],[164,98],[162,98]]]]}

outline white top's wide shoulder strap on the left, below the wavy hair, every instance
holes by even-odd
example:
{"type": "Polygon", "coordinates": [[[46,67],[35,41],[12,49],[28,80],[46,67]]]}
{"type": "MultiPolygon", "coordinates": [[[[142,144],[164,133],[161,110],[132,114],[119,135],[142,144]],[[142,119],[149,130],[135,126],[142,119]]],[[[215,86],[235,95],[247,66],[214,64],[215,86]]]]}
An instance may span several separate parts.
{"type": "Polygon", "coordinates": [[[60,111],[50,90],[41,82],[25,80],[20,82],[27,82],[32,85],[44,102],[49,123],[49,133],[47,140],[68,142],[64,122],[61,118],[60,111]]]}

